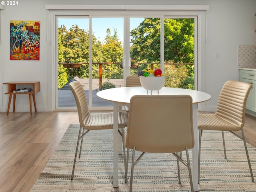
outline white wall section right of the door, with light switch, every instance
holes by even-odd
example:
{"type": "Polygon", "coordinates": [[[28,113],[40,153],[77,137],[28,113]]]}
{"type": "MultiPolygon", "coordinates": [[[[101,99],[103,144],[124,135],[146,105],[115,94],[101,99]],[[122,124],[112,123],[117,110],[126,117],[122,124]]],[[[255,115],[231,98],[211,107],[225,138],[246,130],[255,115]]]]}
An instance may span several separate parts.
{"type": "Polygon", "coordinates": [[[238,45],[256,43],[256,1],[209,1],[206,41],[206,92],[212,99],[206,110],[215,110],[218,94],[227,80],[239,80],[238,45]],[[214,59],[214,53],[219,59],[214,59]]]}

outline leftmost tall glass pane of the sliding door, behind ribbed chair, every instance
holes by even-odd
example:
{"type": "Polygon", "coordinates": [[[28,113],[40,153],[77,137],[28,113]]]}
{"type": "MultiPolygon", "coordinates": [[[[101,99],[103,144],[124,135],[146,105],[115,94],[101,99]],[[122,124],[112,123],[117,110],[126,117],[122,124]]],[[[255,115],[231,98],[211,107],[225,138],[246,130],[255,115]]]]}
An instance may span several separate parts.
{"type": "Polygon", "coordinates": [[[58,107],[76,108],[68,86],[79,81],[89,103],[89,19],[58,18],[58,107]]]}

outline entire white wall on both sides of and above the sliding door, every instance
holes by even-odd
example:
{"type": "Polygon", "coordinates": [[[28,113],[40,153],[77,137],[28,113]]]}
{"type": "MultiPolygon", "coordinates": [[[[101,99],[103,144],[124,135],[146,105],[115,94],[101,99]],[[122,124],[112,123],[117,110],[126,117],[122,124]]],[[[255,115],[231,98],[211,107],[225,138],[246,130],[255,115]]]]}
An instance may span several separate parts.
{"type": "MultiPolygon", "coordinates": [[[[0,41],[0,110],[7,111],[8,81],[41,82],[41,91],[36,94],[38,111],[52,110],[49,107],[48,90],[48,43],[46,41],[45,4],[147,4],[147,5],[209,5],[206,14],[205,90],[212,95],[206,102],[206,110],[214,111],[218,95],[226,80],[239,80],[239,44],[256,44],[256,1],[255,0],[20,0],[18,6],[5,6],[0,41]],[[40,21],[40,60],[10,60],[10,20],[40,21]],[[214,53],[219,59],[214,59],[214,53]],[[2,104],[1,104],[2,103],[2,104]]],[[[50,93],[52,94],[52,93],[50,93]]],[[[11,106],[12,107],[12,106],[11,106]]],[[[16,111],[29,111],[28,96],[19,95],[16,111]]],[[[12,111],[12,110],[10,110],[12,111]]]]}

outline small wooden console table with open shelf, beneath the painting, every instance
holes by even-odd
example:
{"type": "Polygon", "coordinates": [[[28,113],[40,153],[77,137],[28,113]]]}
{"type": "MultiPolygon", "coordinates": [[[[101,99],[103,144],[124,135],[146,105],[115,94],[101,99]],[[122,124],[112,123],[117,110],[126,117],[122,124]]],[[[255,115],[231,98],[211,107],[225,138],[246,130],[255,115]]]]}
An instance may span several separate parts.
{"type": "Polygon", "coordinates": [[[34,100],[34,107],[36,111],[36,98],[35,98],[35,93],[40,91],[40,82],[39,81],[13,81],[13,82],[6,82],[4,84],[8,85],[8,92],[5,94],[9,94],[9,102],[8,102],[8,110],[7,110],[7,115],[9,115],[9,110],[10,110],[10,105],[12,101],[12,95],[13,95],[13,112],[15,112],[15,100],[16,100],[16,94],[28,94],[29,96],[29,104],[30,104],[30,115],[32,115],[32,100],[31,100],[31,95],[34,100]],[[17,93],[13,92],[16,90],[16,85],[33,85],[32,91],[30,92],[25,92],[25,93],[17,93]]]}

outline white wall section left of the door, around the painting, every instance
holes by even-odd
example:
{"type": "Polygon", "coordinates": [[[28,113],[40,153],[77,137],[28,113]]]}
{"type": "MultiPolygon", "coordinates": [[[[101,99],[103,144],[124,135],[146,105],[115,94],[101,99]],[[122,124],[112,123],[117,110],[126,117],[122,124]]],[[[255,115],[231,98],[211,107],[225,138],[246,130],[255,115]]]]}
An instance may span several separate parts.
{"type": "MultiPolygon", "coordinates": [[[[3,85],[9,81],[40,81],[41,91],[36,94],[38,111],[48,110],[48,64],[46,43],[46,10],[42,1],[22,0],[17,6],[4,6],[2,11],[3,29],[1,34],[2,52],[0,60],[2,65],[0,86],[2,95],[2,112],[7,111],[8,97],[4,94],[8,86],[3,85]],[[10,60],[10,20],[39,20],[40,24],[40,60],[10,60]]],[[[13,103],[13,102],[12,102],[13,103]]],[[[34,109],[33,109],[34,110],[34,109]]],[[[16,111],[30,111],[28,95],[18,95],[16,99],[16,111]]],[[[10,108],[12,112],[12,105],[10,108]]]]}

